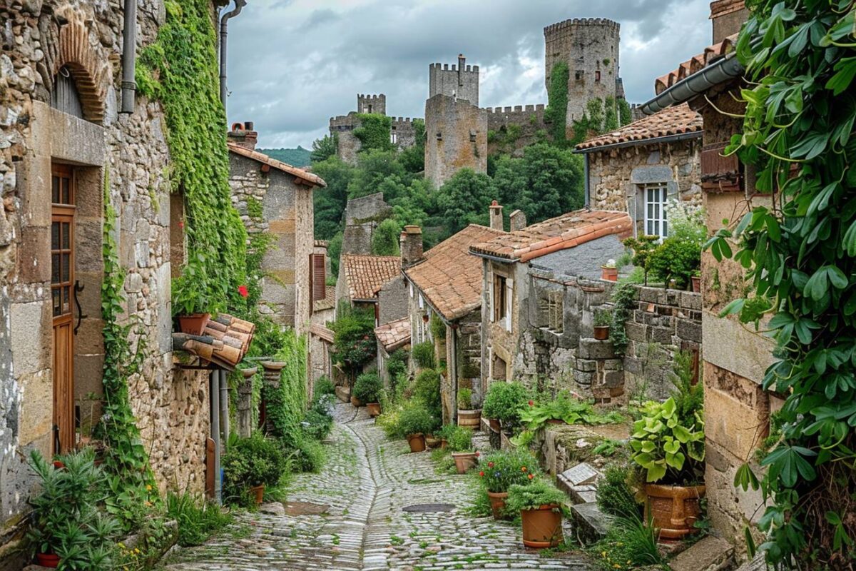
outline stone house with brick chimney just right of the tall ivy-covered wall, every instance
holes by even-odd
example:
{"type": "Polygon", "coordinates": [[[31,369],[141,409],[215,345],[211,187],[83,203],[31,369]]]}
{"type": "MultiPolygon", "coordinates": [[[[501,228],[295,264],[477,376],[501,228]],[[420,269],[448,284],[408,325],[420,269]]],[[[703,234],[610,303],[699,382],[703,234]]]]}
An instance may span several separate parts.
{"type": "Polygon", "coordinates": [[[313,252],[312,191],[327,184],[318,176],[255,150],[253,123],[235,123],[228,134],[232,204],[247,233],[264,233],[272,243],[262,259],[260,311],[276,323],[309,330],[312,305],[324,300],[325,256],[313,252]]]}

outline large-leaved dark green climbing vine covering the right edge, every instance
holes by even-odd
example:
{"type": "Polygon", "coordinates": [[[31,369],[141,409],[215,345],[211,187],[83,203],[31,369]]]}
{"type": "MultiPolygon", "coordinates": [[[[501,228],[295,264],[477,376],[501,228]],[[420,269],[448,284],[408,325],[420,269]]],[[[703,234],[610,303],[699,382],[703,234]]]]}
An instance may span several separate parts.
{"type": "MultiPolygon", "coordinates": [[[[750,0],[737,54],[748,85],[743,132],[727,153],[755,165],[772,201],[707,242],[746,269],[751,294],[728,304],[756,326],[771,315],[776,362],[764,388],[787,400],[758,479],[761,545],[779,568],[852,569],[856,558],[856,4],[750,0]],[[732,253],[729,239],[738,239],[732,253]]],[[[746,534],[752,547],[751,535],[746,534]]]]}

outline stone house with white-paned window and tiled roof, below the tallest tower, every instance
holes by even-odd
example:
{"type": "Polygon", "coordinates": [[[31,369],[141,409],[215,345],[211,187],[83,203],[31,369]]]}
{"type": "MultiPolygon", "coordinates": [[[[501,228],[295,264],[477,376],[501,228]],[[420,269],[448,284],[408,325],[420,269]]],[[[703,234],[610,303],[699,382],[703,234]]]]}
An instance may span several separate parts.
{"type": "Polygon", "coordinates": [[[666,206],[701,205],[701,116],[686,104],[576,146],[586,159],[586,205],[623,210],[634,235],[668,235],[666,206]]]}

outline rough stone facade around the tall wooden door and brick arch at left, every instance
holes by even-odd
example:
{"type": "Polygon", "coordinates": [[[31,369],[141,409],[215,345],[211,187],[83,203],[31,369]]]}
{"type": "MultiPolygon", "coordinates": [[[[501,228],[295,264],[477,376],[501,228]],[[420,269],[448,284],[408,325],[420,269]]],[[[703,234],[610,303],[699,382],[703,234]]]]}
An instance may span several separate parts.
{"type": "MultiPolygon", "coordinates": [[[[134,347],[146,338],[130,399],[162,489],[204,489],[208,435],[205,373],[177,372],[172,361],[169,234],[181,216],[170,217],[163,110],[138,97],[133,114],[117,113],[122,12],[116,3],[85,0],[12,6],[0,7],[0,544],[16,537],[26,509],[33,476],[25,458],[31,449],[51,454],[52,161],[74,164],[77,177],[74,269],[84,286],[80,311],[88,317],[74,340],[74,395],[81,413],[93,415],[82,430],[98,416],[84,391],[101,390],[101,211],[108,177],[119,258],[128,270],[124,319],[133,316],[140,325],[132,330],[134,347]],[[66,65],[81,87],[82,117],[49,104],[66,65]]],[[[138,41],[146,45],[163,23],[163,3],[141,0],[139,9],[138,41]]]]}

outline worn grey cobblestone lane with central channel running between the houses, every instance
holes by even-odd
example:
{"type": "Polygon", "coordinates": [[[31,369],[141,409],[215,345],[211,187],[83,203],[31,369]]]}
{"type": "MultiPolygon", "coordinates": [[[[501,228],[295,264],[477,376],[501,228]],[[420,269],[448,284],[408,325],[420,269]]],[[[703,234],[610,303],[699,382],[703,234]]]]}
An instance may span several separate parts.
{"type": "Polygon", "coordinates": [[[301,474],[288,491],[289,502],[323,503],[326,513],[241,514],[236,529],[248,531],[176,550],[163,569],[591,569],[583,556],[524,550],[518,526],[467,514],[467,477],[438,475],[429,453],[387,440],[365,409],[338,405],[331,441],[322,473],[301,474]],[[416,503],[455,509],[402,511],[416,503]]]}

